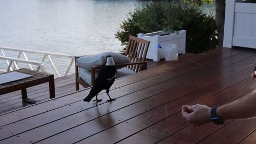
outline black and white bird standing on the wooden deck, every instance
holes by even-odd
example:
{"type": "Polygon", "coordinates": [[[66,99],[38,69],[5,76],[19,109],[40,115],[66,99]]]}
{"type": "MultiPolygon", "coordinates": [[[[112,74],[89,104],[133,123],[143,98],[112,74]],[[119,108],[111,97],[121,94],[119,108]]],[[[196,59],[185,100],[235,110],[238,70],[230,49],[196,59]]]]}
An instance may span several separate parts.
{"type": "MultiPolygon", "coordinates": [[[[109,88],[113,85],[115,81],[115,76],[117,76],[117,68],[115,68],[115,62],[112,56],[107,56],[107,63],[104,68],[100,70],[98,74],[94,86],[91,88],[90,93],[84,99],[84,101],[90,102],[93,97],[96,96],[94,101],[98,102],[102,99],[97,99],[98,93],[100,93],[103,89],[107,89],[106,93],[109,93],[109,88]]],[[[112,101],[115,99],[110,98],[108,94],[109,100],[112,101]]]]}

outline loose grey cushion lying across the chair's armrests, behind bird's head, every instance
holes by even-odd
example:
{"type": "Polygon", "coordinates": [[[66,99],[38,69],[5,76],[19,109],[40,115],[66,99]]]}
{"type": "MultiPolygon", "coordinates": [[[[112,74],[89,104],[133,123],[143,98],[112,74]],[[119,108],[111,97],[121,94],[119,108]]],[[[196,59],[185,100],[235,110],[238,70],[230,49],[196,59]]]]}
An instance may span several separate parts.
{"type": "MultiPolygon", "coordinates": [[[[77,59],[77,66],[79,68],[91,70],[91,66],[95,65],[105,65],[106,64],[106,57],[112,56],[114,59],[115,64],[121,63],[129,63],[129,58],[121,55],[120,53],[115,52],[103,52],[98,55],[89,55],[83,56],[77,59]]],[[[118,68],[120,69],[120,68],[118,68]]]]}

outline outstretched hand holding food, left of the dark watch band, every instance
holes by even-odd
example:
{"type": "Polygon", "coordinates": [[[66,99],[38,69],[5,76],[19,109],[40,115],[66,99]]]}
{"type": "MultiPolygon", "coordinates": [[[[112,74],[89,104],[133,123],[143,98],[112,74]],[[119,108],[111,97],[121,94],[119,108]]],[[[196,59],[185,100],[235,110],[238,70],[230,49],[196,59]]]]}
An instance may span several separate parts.
{"type": "Polygon", "coordinates": [[[206,105],[183,105],[182,116],[194,126],[210,123],[211,108],[206,105]]]}

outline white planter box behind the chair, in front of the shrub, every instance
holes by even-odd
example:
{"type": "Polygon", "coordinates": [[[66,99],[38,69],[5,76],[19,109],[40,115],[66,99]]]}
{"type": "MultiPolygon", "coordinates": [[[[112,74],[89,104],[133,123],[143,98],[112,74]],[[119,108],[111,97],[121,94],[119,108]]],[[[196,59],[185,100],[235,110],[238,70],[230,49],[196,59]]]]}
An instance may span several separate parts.
{"type": "Polygon", "coordinates": [[[159,31],[153,33],[138,34],[138,38],[150,41],[146,58],[153,59],[153,61],[160,61],[161,58],[165,58],[162,49],[158,48],[158,44],[160,44],[162,48],[166,47],[168,44],[176,44],[178,48],[178,54],[185,53],[186,31],[181,30],[178,32],[178,34],[172,33],[160,36],[162,34],[166,34],[166,32],[159,31]]]}

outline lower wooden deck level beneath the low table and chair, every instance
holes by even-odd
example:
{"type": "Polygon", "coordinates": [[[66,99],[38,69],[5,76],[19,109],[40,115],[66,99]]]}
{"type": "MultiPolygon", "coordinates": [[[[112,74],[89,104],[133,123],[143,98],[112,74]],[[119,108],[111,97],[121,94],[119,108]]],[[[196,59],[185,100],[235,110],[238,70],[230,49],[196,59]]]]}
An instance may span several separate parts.
{"type": "MultiPolygon", "coordinates": [[[[186,53],[185,55],[179,55],[179,59],[193,56],[194,54],[186,53]]],[[[154,68],[159,65],[168,63],[164,59],[160,62],[153,62],[147,60],[147,68],[154,68]]],[[[84,89],[80,86],[79,89],[84,89]]],[[[62,97],[75,92],[75,75],[68,75],[55,79],[55,92],[56,97],[62,97]]],[[[28,98],[35,99],[37,101],[44,101],[49,99],[49,85],[45,83],[43,85],[27,88],[28,98]]],[[[28,106],[30,104],[22,102],[21,91],[0,95],[0,114],[11,110],[19,109],[21,107],[28,106]]]]}

